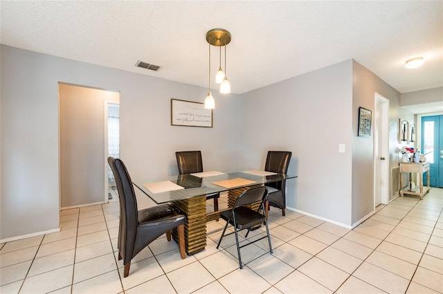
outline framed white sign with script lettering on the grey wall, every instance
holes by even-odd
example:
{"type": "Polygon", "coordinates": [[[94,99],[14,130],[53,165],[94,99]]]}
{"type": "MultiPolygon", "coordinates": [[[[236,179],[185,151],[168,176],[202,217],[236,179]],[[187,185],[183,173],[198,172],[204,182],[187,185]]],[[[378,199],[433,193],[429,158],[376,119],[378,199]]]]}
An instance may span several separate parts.
{"type": "Polygon", "coordinates": [[[201,102],[171,99],[171,125],[213,127],[213,109],[201,102]]]}

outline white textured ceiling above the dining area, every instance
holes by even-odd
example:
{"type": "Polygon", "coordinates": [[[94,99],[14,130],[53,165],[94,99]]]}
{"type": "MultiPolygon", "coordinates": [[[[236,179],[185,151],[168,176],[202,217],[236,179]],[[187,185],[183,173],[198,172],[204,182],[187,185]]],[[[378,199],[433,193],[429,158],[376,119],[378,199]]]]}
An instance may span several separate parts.
{"type": "MultiPolygon", "coordinates": [[[[208,86],[206,32],[232,34],[245,93],[355,59],[401,93],[443,86],[443,1],[1,1],[1,44],[208,86]],[[424,66],[404,68],[423,56],[424,66]],[[149,71],[138,60],[161,66],[149,71]]],[[[219,48],[212,48],[212,74],[219,48]]]]}

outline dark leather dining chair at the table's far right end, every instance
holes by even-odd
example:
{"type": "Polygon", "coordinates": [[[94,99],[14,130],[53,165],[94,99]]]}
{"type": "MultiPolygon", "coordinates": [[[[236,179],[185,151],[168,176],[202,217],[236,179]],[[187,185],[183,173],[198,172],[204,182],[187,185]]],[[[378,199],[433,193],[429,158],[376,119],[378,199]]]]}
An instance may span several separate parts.
{"type": "MultiPolygon", "coordinates": [[[[291,151],[268,151],[264,170],[266,172],[276,172],[287,174],[291,151]]],[[[282,209],[282,215],[286,215],[286,180],[267,183],[269,205],[282,209]]]]}

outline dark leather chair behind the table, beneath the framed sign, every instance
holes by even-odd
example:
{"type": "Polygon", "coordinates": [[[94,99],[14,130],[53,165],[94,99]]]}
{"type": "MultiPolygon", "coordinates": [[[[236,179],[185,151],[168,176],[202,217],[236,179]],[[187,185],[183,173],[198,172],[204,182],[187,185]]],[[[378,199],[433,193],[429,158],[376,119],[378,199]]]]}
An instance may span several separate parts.
{"type": "MultiPolygon", "coordinates": [[[[195,174],[203,172],[203,160],[201,160],[201,151],[177,151],[177,167],[179,174],[195,174]]],[[[219,210],[220,193],[212,193],[206,195],[206,200],[214,199],[214,211],[219,210]]]]}

